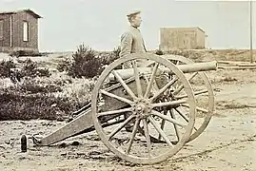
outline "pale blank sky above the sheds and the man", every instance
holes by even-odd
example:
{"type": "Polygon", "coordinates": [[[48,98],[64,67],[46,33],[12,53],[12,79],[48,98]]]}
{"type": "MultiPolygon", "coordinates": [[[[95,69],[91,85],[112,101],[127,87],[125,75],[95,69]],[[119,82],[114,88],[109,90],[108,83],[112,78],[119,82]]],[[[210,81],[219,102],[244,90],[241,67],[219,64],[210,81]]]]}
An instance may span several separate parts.
{"type": "MultiPolygon", "coordinates": [[[[253,2],[253,48],[256,48],[256,2],[253,2]]],[[[74,50],[81,43],[112,50],[128,28],[126,14],[141,10],[141,32],[148,49],[159,47],[162,27],[199,27],[207,47],[249,48],[249,3],[181,0],[0,0],[0,11],[34,10],[41,51],[74,50]]]]}

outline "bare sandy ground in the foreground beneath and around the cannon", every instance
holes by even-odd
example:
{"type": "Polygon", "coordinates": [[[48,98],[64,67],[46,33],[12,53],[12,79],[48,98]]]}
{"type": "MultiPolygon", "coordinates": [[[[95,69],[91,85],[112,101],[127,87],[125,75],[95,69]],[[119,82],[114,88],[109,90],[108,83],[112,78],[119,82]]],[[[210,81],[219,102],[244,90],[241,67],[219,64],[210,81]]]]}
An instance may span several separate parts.
{"type": "Polygon", "coordinates": [[[32,134],[46,135],[65,123],[11,121],[0,123],[0,170],[256,171],[256,72],[219,70],[208,76],[215,91],[215,116],[200,137],[168,161],[154,165],[121,161],[95,132],[50,147],[33,146],[32,134]],[[27,153],[20,152],[22,134],[29,137],[27,153]]]}

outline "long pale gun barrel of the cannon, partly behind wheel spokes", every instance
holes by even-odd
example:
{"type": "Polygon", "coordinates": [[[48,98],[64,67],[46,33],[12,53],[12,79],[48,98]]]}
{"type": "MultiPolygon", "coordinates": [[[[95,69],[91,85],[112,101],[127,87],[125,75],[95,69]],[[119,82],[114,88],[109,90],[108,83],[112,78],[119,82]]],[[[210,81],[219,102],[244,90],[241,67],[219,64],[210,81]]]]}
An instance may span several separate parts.
{"type": "MultiPolygon", "coordinates": [[[[209,71],[217,69],[217,62],[205,62],[205,63],[194,63],[188,65],[178,65],[179,69],[181,69],[184,73],[190,72],[200,72],[200,71],[209,71]]],[[[138,67],[140,73],[144,73],[145,75],[150,74],[152,72],[151,67],[138,67]]],[[[115,70],[122,79],[128,79],[134,75],[133,68],[125,68],[125,69],[116,69],[115,70]]],[[[168,73],[172,73],[171,70],[167,67],[161,67],[158,71],[165,71],[168,73]]],[[[112,73],[108,76],[109,81],[115,81],[115,77],[112,73]]]]}

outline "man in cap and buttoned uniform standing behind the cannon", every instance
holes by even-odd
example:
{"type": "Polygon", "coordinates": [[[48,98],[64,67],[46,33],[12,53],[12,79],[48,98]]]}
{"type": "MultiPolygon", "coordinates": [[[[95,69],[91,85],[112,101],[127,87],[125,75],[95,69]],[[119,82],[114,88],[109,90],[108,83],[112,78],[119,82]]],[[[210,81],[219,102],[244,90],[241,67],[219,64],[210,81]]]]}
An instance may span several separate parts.
{"type": "MultiPolygon", "coordinates": [[[[121,36],[121,51],[120,57],[123,58],[130,53],[144,53],[147,52],[143,37],[139,27],[141,26],[141,11],[130,12],[128,22],[130,26],[121,36]]],[[[124,64],[125,68],[132,67],[129,63],[124,64]]]]}

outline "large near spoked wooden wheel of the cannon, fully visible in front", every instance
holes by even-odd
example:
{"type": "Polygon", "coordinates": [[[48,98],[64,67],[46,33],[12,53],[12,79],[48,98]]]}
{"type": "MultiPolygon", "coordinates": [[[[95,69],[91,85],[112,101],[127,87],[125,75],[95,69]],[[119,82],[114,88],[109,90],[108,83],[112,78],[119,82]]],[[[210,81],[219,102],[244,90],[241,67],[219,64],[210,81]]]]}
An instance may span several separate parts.
{"type": "Polygon", "coordinates": [[[194,93],[183,72],[167,59],[154,54],[131,54],[114,61],[102,72],[92,91],[92,121],[101,141],[118,157],[133,163],[157,163],[175,155],[190,137],[195,122],[195,110],[194,93]],[[148,67],[149,72],[138,66],[143,60],[152,62],[152,67],[148,67]],[[125,80],[122,75],[128,71],[116,70],[127,62],[132,65],[132,68],[129,68],[129,71],[132,71],[131,82],[125,80]],[[164,74],[164,68],[172,72],[173,79],[152,94],[155,78],[164,74]],[[143,79],[145,76],[149,77],[148,82],[143,79]],[[109,83],[111,77],[114,77],[116,83],[108,87],[106,83],[109,83]],[[159,102],[158,99],[176,82],[184,86],[187,97],[181,101],[168,99],[166,102],[159,102]],[[180,104],[188,106],[188,122],[178,122],[165,115],[161,109],[180,104]],[[121,122],[103,126],[106,121],[110,123],[111,119],[116,118],[121,122]],[[158,125],[157,120],[160,119],[182,127],[179,142],[173,144],[170,141],[173,133],[158,125]],[[128,124],[131,124],[131,132],[125,128],[128,124]],[[139,127],[144,128],[145,134],[139,133],[139,127]],[[160,134],[165,140],[164,143],[151,142],[149,135],[154,133],[160,134]]]}

